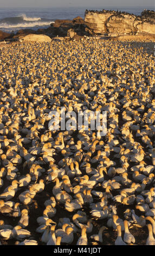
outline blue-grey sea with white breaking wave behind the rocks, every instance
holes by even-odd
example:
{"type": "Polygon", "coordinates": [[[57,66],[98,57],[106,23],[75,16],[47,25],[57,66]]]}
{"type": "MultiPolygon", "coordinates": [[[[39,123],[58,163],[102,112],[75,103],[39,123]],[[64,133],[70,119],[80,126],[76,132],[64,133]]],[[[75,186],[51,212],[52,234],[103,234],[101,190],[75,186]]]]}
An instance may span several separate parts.
{"type": "MultiPolygon", "coordinates": [[[[152,8],[147,8],[153,10],[152,8]]],[[[96,8],[87,8],[96,10],[96,8]]],[[[137,8],[117,8],[107,7],[98,8],[97,10],[120,10],[127,13],[140,15],[144,7],[137,8]]],[[[1,8],[0,9],[0,30],[5,32],[17,32],[19,29],[47,28],[50,23],[56,19],[72,20],[77,16],[84,18],[86,8],[1,8]]]]}

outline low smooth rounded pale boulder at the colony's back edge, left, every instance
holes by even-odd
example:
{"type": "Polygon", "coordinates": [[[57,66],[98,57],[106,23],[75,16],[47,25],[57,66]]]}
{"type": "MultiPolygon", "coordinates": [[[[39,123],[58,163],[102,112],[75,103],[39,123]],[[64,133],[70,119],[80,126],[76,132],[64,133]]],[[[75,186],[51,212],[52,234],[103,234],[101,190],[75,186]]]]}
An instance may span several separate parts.
{"type": "Polygon", "coordinates": [[[50,42],[51,38],[48,35],[35,35],[29,34],[21,37],[22,41],[29,41],[29,42],[50,42]]]}

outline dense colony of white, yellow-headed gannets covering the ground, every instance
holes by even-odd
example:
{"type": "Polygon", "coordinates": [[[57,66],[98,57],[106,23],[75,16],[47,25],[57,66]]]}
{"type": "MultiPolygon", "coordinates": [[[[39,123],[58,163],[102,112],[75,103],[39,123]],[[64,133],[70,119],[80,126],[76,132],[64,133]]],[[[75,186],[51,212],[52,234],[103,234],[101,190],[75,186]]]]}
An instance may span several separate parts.
{"type": "Polygon", "coordinates": [[[153,42],[21,42],[0,55],[0,244],[155,245],[153,42]],[[106,135],[50,130],[61,107],[106,111],[106,135]]]}

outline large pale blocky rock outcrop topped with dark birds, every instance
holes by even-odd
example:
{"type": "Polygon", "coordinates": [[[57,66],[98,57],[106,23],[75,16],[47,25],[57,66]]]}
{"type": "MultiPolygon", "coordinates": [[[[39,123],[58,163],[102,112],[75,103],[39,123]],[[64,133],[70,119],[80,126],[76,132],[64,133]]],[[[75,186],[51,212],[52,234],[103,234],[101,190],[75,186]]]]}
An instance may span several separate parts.
{"type": "Polygon", "coordinates": [[[92,33],[110,36],[155,34],[154,11],[143,11],[141,16],[120,11],[85,11],[85,24],[92,33]]]}

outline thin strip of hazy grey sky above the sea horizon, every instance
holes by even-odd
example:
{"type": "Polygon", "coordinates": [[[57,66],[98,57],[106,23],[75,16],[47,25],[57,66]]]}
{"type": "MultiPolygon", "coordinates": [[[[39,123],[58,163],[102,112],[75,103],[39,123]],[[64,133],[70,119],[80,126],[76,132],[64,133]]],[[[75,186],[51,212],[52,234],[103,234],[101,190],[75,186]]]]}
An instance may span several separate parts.
{"type": "Polygon", "coordinates": [[[154,7],[155,0],[0,0],[1,8],[21,7],[154,7]]]}

